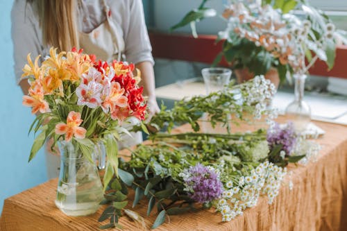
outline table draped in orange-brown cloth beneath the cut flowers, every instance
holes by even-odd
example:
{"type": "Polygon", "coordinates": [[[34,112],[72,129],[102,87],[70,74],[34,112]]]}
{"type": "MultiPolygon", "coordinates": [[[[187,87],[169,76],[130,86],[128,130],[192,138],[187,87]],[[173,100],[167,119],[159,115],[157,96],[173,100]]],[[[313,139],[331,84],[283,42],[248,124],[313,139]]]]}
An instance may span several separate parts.
{"type": "MultiPolygon", "coordinates": [[[[289,165],[294,187],[290,190],[286,179],[273,204],[260,197],[257,206],[228,223],[221,223],[221,216],[213,209],[170,216],[170,221],[157,230],[347,230],[347,127],[315,123],[326,132],[317,140],[322,145],[319,159],[306,166],[289,165]]],[[[183,126],[178,131],[187,130],[189,127],[183,126]]],[[[54,205],[56,187],[54,179],[7,198],[1,230],[98,230],[102,209],[91,216],[65,216],[54,205]]],[[[149,228],[156,214],[146,217],[142,205],[146,201],[135,209],[146,218],[149,228]]],[[[143,230],[126,217],[120,223],[124,230],[143,230]]]]}

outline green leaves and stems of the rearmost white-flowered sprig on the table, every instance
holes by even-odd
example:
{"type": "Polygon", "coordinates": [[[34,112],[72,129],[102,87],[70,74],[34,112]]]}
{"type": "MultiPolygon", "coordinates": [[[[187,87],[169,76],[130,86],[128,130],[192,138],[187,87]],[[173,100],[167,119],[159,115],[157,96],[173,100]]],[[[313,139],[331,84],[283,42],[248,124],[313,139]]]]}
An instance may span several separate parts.
{"type": "Polygon", "coordinates": [[[217,123],[223,123],[229,128],[229,123],[237,123],[235,120],[230,121],[230,115],[237,117],[239,121],[247,121],[244,115],[253,114],[255,108],[247,106],[246,101],[242,101],[241,104],[239,97],[244,98],[249,94],[246,88],[252,84],[252,81],[240,85],[234,85],[232,82],[223,91],[176,101],[171,110],[162,107],[160,112],[151,119],[149,125],[158,130],[165,128],[167,132],[171,132],[176,124],[189,123],[194,132],[197,132],[200,130],[198,120],[204,113],[208,114],[208,122],[212,127],[217,123]]]}

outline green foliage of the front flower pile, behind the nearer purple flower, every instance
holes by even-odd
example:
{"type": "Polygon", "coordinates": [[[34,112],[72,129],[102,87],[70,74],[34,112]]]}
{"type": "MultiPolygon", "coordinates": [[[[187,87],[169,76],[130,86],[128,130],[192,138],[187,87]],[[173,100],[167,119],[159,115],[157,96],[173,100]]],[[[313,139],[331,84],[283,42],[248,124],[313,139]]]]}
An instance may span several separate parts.
{"type": "MultiPolygon", "coordinates": [[[[140,200],[147,200],[147,216],[153,213],[154,207],[158,209],[157,218],[152,225],[152,228],[157,228],[164,223],[167,216],[196,210],[194,200],[184,190],[183,178],[180,176],[180,173],[189,166],[201,163],[217,168],[223,160],[227,167],[221,172],[221,180],[226,183],[235,176],[249,173],[254,166],[267,159],[250,162],[247,159],[249,154],[244,153],[245,147],[256,147],[260,142],[266,141],[265,130],[224,135],[195,132],[157,133],[152,135],[151,139],[155,144],[137,146],[132,151],[129,162],[119,161],[119,178],[110,181],[108,189],[111,192],[105,194],[105,200],[115,209],[108,207],[108,212],[103,212],[101,215],[102,221],[106,219],[111,221],[113,216],[122,216],[121,212],[124,212],[124,206],[128,203],[128,196],[121,193],[121,190],[129,186],[135,190],[133,207],[140,200]],[[180,146],[173,146],[167,142],[180,146]]],[[[282,146],[273,148],[268,158],[278,155],[281,148],[282,146]]],[[[253,150],[254,155],[259,151],[253,150]]],[[[298,161],[301,157],[289,157],[287,163],[294,159],[298,161]]],[[[142,218],[137,217],[137,220],[142,218]]]]}

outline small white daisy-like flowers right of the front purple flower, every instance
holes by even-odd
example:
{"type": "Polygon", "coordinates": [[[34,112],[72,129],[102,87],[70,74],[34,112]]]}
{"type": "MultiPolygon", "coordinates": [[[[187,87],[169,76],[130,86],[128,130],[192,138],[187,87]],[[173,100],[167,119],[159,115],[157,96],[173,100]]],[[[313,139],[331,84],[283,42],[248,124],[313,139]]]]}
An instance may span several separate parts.
{"type": "Polygon", "coordinates": [[[264,162],[251,170],[248,176],[241,176],[238,182],[224,184],[224,191],[216,204],[217,211],[222,215],[222,221],[231,221],[242,215],[247,207],[257,205],[262,194],[269,197],[269,203],[278,195],[281,182],[287,173],[270,162],[264,162]]]}

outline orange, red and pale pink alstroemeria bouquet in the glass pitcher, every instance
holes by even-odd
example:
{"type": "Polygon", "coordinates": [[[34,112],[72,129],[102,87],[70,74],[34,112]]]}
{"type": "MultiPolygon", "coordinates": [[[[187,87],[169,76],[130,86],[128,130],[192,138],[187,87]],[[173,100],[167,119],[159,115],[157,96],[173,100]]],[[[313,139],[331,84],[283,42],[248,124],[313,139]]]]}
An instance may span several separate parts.
{"type": "Polygon", "coordinates": [[[48,139],[65,140],[78,148],[87,160],[93,162],[94,144],[103,142],[108,155],[104,177],[108,184],[117,174],[117,139],[119,132],[127,132],[121,123],[128,117],[142,121],[146,103],[142,87],[138,87],[135,66],[126,62],[104,62],[82,50],[50,55],[38,65],[40,55],[32,62],[28,54],[22,78],[28,77],[30,89],[23,96],[23,105],[37,114],[29,132],[40,132],[35,138],[29,161],[48,139]]]}

